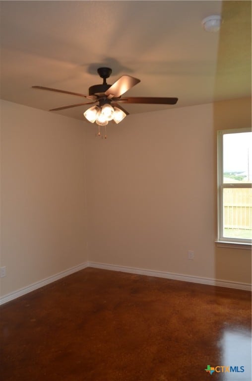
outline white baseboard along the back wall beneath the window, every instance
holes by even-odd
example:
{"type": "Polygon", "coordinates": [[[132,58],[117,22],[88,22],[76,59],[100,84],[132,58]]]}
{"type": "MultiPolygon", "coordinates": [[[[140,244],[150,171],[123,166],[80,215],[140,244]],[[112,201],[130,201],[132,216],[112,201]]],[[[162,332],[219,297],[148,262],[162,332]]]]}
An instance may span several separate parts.
{"type": "Polygon", "coordinates": [[[167,272],[167,271],[154,271],[154,270],[147,270],[143,268],[116,266],[114,264],[97,263],[97,262],[88,262],[88,267],[102,268],[105,270],[113,270],[113,271],[129,272],[131,274],[156,276],[159,278],[182,280],[184,282],[209,284],[210,286],[236,288],[236,289],[245,290],[245,291],[252,290],[252,285],[249,283],[241,283],[241,282],[233,282],[233,281],[214,279],[214,278],[205,278],[205,277],[199,277],[199,276],[193,276],[193,275],[177,274],[174,272],[167,272]]]}

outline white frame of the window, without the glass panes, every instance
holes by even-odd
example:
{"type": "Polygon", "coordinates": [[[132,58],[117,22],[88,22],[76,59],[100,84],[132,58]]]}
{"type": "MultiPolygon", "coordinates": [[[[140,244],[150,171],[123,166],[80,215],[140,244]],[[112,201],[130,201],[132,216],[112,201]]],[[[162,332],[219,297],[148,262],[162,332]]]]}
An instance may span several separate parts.
{"type": "Polygon", "coordinates": [[[217,177],[218,177],[218,239],[217,243],[223,244],[234,244],[235,247],[240,247],[242,245],[249,245],[251,248],[252,240],[246,238],[234,238],[234,237],[224,237],[223,236],[223,190],[226,188],[231,189],[247,189],[252,188],[252,183],[224,183],[223,182],[223,136],[228,133],[240,133],[240,132],[251,132],[252,129],[250,127],[245,128],[233,128],[233,129],[223,129],[218,131],[217,135],[217,147],[218,147],[218,155],[217,155],[217,177]]]}

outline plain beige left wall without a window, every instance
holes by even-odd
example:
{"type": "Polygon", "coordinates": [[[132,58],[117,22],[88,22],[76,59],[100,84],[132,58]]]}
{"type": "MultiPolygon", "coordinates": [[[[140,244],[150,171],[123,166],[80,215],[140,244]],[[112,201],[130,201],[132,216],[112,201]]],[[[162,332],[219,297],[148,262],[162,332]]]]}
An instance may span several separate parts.
{"type": "Polygon", "coordinates": [[[1,295],[87,260],[80,121],[1,102],[1,295]]]}

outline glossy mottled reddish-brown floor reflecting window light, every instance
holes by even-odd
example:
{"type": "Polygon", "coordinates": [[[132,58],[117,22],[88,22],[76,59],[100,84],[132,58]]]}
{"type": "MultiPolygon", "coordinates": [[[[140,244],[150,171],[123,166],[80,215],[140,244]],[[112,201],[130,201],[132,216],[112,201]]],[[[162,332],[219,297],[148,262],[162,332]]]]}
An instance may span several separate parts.
{"type": "Polygon", "coordinates": [[[1,381],[251,381],[246,291],[86,268],[1,306],[0,326],[1,381]]]}

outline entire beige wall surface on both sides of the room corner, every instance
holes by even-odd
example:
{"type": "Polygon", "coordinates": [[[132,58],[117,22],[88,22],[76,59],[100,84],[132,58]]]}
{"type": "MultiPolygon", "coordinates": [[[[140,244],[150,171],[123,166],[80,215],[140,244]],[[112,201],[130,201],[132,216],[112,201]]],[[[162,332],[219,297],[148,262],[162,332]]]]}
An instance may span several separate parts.
{"type": "Polygon", "coordinates": [[[251,283],[251,252],[214,244],[216,131],[248,125],[244,99],[130,115],[105,140],[2,101],[1,295],[87,260],[251,283]]]}

